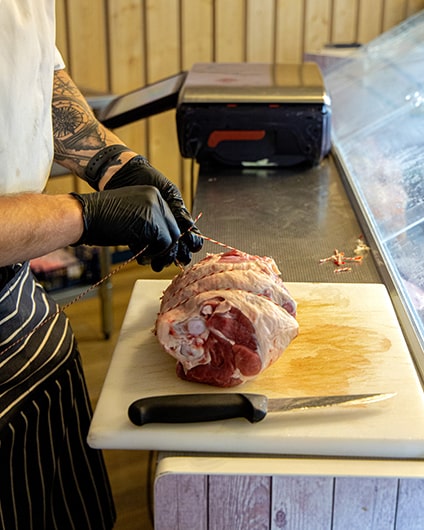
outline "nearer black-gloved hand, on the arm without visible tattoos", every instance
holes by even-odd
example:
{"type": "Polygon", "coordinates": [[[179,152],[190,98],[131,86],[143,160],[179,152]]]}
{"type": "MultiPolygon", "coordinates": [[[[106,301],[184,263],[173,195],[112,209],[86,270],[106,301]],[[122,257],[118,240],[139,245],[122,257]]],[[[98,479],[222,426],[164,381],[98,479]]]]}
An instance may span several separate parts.
{"type": "Polygon", "coordinates": [[[96,193],[71,193],[82,205],[84,233],[76,244],[128,245],[141,264],[159,272],[178,253],[180,230],[169,206],[153,186],[96,193]]]}

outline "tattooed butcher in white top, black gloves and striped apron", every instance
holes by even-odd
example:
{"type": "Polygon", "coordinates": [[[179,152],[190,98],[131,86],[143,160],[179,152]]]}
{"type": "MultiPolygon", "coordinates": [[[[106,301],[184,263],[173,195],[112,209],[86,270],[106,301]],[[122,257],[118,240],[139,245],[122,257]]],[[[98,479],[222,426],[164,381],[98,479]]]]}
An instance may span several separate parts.
{"type": "Polygon", "coordinates": [[[128,245],[155,271],[202,242],[178,189],[95,119],[55,49],[54,0],[0,2],[0,528],[111,529],[75,337],[29,260],[128,245]],[[91,193],[42,193],[53,160],[91,193]],[[191,229],[191,230],[189,230],[191,229]]]}

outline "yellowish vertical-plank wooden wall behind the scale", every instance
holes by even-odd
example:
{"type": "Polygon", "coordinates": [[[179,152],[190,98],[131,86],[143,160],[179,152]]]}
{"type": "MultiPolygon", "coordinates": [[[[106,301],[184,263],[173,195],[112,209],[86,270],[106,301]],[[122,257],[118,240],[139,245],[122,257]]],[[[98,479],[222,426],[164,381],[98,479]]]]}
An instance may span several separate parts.
{"type": "MultiPolygon", "coordinates": [[[[57,43],[87,93],[124,93],[194,62],[298,62],[328,42],[366,43],[424,0],[57,0],[57,43]]],[[[175,112],[120,128],[182,188],[175,112]]]]}

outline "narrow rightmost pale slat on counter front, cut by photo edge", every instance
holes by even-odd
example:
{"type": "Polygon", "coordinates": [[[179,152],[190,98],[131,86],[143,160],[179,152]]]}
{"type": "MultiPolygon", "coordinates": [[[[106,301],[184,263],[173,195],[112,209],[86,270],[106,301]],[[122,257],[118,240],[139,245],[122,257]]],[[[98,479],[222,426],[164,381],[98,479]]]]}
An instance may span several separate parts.
{"type": "Polygon", "coordinates": [[[424,528],[424,479],[401,479],[396,530],[424,528]]]}

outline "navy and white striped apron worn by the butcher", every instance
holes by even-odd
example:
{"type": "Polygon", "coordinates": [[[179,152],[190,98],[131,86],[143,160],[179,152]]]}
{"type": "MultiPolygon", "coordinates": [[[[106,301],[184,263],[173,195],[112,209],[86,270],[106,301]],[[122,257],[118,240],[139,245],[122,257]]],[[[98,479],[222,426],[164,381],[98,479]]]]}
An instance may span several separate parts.
{"type": "Polygon", "coordinates": [[[0,529],[106,530],[115,510],[68,319],[14,266],[0,291],[0,529]]]}

